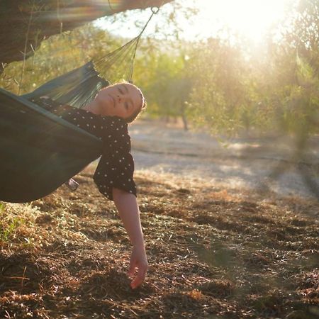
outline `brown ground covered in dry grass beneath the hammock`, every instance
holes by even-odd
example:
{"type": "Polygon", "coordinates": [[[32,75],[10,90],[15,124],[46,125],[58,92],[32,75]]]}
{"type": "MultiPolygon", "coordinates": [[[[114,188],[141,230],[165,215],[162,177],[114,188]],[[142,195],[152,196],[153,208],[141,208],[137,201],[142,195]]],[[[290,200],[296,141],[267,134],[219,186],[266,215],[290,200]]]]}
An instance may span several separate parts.
{"type": "MultiPolygon", "coordinates": [[[[128,237],[94,186],[92,164],[76,177],[76,192],[62,186],[32,203],[2,203],[0,318],[319,317],[316,198],[257,191],[245,179],[227,187],[212,179],[208,155],[207,174],[198,173],[191,154],[201,147],[183,155],[178,142],[169,162],[167,140],[150,149],[151,135],[144,143],[138,135],[145,125],[131,130],[150,263],[145,284],[130,289],[128,237]],[[156,154],[162,167],[152,163],[156,154]],[[191,165],[189,174],[181,169],[191,165]]],[[[180,134],[189,143],[195,136],[180,134]]],[[[225,168],[223,158],[216,163],[225,168]]]]}

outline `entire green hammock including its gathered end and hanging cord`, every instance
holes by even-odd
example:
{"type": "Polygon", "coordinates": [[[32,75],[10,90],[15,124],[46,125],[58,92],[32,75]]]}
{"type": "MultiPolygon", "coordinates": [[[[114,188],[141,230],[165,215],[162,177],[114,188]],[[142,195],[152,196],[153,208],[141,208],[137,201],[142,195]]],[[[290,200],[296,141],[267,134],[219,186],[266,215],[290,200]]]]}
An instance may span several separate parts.
{"type": "MultiPolygon", "coordinates": [[[[155,13],[152,10],[152,16],[155,13]]],[[[131,82],[138,42],[152,16],[133,40],[30,94],[17,96],[0,89],[0,201],[23,203],[46,196],[101,155],[99,138],[46,111],[33,99],[50,96],[81,108],[110,84],[99,77],[94,65],[110,79],[111,67],[119,62],[126,74],[117,72],[115,77],[131,82]]]]}

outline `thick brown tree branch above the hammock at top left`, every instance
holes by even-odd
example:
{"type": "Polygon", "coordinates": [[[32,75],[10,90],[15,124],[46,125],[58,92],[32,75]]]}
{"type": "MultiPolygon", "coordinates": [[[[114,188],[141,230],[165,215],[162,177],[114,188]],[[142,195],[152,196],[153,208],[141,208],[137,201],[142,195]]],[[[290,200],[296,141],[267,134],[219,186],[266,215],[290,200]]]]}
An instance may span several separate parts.
{"type": "Polygon", "coordinates": [[[36,45],[63,31],[73,30],[90,21],[115,13],[161,6],[174,0],[2,0],[0,10],[1,64],[23,60],[23,48],[33,55],[36,45]],[[32,10],[32,8],[35,8],[32,10]],[[30,21],[26,39],[26,21],[30,21]]]}

